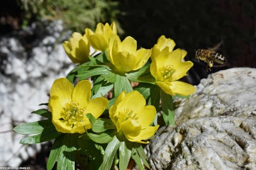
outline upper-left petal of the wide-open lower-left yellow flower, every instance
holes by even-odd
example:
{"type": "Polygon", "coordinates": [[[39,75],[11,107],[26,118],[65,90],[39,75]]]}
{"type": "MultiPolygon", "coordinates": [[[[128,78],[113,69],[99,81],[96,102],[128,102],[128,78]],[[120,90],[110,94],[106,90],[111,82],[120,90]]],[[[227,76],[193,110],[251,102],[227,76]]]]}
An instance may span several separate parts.
{"type": "Polygon", "coordinates": [[[56,79],[51,87],[50,96],[58,96],[60,103],[65,106],[67,102],[71,101],[73,92],[73,85],[66,78],[56,79]]]}

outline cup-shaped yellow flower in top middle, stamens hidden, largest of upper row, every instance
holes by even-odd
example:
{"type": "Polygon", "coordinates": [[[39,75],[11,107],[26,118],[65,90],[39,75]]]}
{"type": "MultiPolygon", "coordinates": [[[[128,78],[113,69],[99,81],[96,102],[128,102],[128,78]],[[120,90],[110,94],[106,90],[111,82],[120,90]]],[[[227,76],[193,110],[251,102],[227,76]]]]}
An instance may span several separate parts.
{"type": "Polygon", "coordinates": [[[137,50],[137,42],[126,37],[123,42],[117,35],[112,35],[109,42],[109,60],[120,73],[142,68],[149,59],[151,50],[137,50]]]}

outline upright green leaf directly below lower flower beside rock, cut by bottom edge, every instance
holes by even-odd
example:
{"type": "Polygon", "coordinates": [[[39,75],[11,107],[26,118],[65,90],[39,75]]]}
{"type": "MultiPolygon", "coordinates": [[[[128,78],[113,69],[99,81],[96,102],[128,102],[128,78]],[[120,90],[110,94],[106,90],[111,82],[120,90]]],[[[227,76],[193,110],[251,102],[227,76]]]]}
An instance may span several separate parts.
{"type": "Polygon", "coordinates": [[[119,147],[119,169],[126,169],[131,158],[131,148],[126,146],[126,142],[120,142],[119,147]]]}

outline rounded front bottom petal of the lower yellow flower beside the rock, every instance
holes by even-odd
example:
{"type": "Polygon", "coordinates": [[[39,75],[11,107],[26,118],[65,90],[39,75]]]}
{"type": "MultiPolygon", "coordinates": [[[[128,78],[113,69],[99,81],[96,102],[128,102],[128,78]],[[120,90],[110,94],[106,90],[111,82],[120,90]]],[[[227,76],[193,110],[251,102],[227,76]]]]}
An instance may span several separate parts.
{"type": "Polygon", "coordinates": [[[126,121],[122,122],[120,125],[120,130],[129,136],[137,136],[140,134],[141,126],[137,121],[127,119],[126,121]]]}

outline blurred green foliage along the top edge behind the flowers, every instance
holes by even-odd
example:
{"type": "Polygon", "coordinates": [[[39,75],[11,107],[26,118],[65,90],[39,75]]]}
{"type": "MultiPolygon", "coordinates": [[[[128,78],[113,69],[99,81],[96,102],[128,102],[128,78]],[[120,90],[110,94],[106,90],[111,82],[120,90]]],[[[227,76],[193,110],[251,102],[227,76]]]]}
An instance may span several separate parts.
{"type": "Polygon", "coordinates": [[[32,20],[61,19],[67,29],[84,32],[97,23],[111,23],[119,13],[118,2],[111,0],[17,0],[24,10],[22,27],[32,20]]]}

